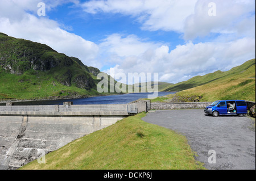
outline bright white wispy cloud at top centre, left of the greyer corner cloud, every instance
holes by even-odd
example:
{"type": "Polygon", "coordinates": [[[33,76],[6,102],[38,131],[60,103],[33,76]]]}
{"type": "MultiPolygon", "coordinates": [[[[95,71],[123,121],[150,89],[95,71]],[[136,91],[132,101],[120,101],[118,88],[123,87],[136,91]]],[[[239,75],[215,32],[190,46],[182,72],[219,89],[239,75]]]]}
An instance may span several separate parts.
{"type": "Polygon", "coordinates": [[[143,30],[182,31],[183,23],[193,13],[196,0],[108,0],[82,3],[84,11],[131,15],[142,22],[143,30]]]}

